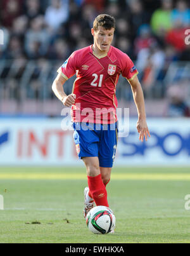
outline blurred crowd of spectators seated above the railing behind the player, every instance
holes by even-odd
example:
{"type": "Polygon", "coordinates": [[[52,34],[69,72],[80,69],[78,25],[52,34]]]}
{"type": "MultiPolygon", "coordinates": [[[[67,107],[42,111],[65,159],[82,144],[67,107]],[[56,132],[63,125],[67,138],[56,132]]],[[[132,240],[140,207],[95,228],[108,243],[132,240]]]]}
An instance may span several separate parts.
{"type": "Polygon", "coordinates": [[[190,60],[186,0],[1,0],[0,60],[64,62],[93,43],[91,27],[100,13],[116,18],[113,46],[136,62],[144,90],[155,72],[162,81],[171,62],[190,60]]]}

